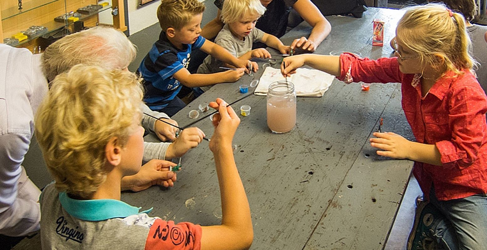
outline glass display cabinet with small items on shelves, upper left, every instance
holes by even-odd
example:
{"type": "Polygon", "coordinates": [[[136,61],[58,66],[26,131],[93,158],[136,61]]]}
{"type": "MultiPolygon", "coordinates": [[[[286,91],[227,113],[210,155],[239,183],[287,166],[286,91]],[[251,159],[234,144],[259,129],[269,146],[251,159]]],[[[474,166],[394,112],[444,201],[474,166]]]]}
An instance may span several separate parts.
{"type": "Polygon", "coordinates": [[[123,0],[1,0],[0,42],[39,53],[43,40],[83,27],[111,25],[125,31],[123,8],[123,0]]]}

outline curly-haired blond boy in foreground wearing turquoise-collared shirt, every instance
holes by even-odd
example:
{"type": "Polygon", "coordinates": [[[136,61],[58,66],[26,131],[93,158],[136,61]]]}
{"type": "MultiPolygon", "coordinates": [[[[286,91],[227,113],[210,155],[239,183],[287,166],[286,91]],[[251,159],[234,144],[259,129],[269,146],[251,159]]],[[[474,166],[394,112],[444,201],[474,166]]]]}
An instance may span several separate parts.
{"type": "MultiPolygon", "coordinates": [[[[253,238],[250,209],[233,159],[240,122],[217,99],[210,142],[222,188],[221,226],[175,224],[120,201],[124,178],[139,175],[143,155],[141,85],[135,74],[77,65],[53,81],[38,109],[36,135],[56,182],[42,192],[43,249],[245,249],[253,238]],[[184,244],[169,232],[181,232],[184,244]],[[165,233],[168,232],[168,233],[165,233]],[[130,235],[129,237],[127,235],[130,235]]],[[[160,160],[159,160],[160,161],[160,160]]],[[[165,186],[176,180],[160,161],[165,186]]]]}

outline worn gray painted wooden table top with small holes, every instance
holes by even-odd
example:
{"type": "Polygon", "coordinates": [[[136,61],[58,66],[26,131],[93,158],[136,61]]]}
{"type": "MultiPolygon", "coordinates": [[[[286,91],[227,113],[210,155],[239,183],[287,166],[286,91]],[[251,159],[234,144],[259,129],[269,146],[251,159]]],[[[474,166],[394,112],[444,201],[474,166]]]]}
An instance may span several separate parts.
{"type": "MultiPolygon", "coordinates": [[[[370,8],[363,18],[327,17],[333,30],[315,54],[349,49],[374,59],[390,56],[389,41],[402,13],[370,8]],[[374,18],[385,21],[384,47],[372,46],[374,18]]],[[[309,25],[301,23],[281,39],[290,44],[310,31],[309,25]]],[[[281,57],[275,58],[281,61],[281,57]]],[[[262,71],[244,75],[236,83],[214,86],[173,119],[185,126],[194,121],[187,114],[198,109],[199,103],[216,97],[228,103],[241,98],[244,94],[239,93],[239,85],[259,79],[262,71]]],[[[400,100],[397,83],[373,84],[365,92],[360,84],[346,85],[335,79],[323,97],[297,98],[297,125],[281,135],[272,134],[267,127],[265,96],[252,95],[232,105],[236,110],[244,104],[252,107],[249,116],[240,116],[233,141],[254,225],[251,249],[382,249],[412,161],[379,157],[368,139],[377,130],[380,117],[384,118],[384,131],[412,139],[400,100]]],[[[211,138],[213,127],[208,118],[195,126],[211,138]]],[[[173,188],[124,192],[122,200],[143,209],[153,207],[150,215],[163,219],[220,224],[220,192],[208,143],[190,150],[181,163],[183,169],[173,188]]],[[[24,244],[30,245],[24,240],[16,249],[24,244]]]]}

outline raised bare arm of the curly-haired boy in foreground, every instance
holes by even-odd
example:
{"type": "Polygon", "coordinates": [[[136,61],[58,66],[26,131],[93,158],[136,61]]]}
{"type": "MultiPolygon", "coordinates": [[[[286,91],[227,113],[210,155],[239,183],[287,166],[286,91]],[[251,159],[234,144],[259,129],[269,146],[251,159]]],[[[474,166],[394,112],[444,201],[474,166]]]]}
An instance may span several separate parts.
{"type": "Polygon", "coordinates": [[[209,143],[215,157],[222,200],[222,225],[202,227],[202,250],[248,249],[253,240],[252,219],[233,158],[232,139],[240,119],[232,107],[218,98],[210,106],[218,108],[213,118],[215,132],[209,143]],[[216,119],[215,119],[216,118],[216,119]]]}

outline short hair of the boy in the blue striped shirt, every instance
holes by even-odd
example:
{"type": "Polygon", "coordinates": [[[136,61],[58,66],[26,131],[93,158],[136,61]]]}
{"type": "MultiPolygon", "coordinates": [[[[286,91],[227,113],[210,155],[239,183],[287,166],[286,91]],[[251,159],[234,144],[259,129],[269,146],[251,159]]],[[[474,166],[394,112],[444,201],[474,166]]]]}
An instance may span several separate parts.
{"type": "Polygon", "coordinates": [[[199,0],[162,0],[157,8],[157,19],[163,31],[181,30],[191,18],[205,11],[199,0]]]}

